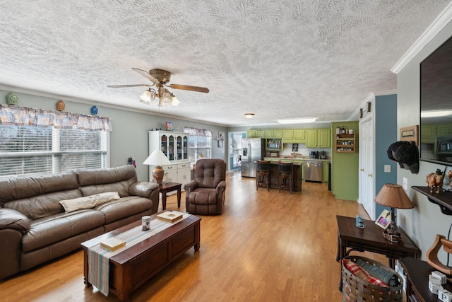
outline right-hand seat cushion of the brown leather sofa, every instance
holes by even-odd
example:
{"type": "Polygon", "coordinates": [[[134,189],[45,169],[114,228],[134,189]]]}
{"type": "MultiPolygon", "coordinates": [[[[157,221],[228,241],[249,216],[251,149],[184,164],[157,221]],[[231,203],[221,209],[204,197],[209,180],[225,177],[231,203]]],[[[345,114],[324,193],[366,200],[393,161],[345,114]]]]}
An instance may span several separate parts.
{"type": "Polygon", "coordinates": [[[143,211],[151,211],[152,205],[153,203],[147,198],[129,196],[101,204],[93,209],[100,211],[105,216],[105,224],[108,224],[143,211]]]}

